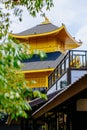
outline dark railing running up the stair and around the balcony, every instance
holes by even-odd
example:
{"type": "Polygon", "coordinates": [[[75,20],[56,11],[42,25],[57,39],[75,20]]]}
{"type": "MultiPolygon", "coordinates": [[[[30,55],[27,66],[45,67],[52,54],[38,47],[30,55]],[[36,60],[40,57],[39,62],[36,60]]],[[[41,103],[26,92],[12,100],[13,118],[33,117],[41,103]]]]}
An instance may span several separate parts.
{"type": "Polygon", "coordinates": [[[48,88],[52,87],[69,68],[87,69],[87,51],[70,50],[48,77],[48,88]]]}

